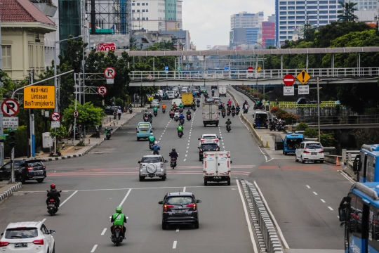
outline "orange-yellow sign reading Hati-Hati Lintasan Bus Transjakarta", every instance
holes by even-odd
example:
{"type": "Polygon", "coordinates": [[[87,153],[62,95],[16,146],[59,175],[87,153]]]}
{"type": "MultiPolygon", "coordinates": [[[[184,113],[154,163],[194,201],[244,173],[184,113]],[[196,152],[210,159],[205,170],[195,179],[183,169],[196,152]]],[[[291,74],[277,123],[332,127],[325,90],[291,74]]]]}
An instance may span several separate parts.
{"type": "Polygon", "coordinates": [[[54,86],[30,86],[24,89],[25,109],[51,109],[54,107],[54,86]]]}

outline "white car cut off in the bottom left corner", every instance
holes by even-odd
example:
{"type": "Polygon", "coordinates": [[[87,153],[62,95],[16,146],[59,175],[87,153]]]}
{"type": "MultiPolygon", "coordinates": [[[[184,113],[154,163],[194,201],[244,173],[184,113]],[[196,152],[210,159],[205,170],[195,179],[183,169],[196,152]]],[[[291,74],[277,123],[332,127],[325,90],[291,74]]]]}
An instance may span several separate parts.
{"type": "Polygon", "coordinates": [[[9,223],[0,240],[0,252],[53,253],[55,231],[42,221],[9,223]]]}

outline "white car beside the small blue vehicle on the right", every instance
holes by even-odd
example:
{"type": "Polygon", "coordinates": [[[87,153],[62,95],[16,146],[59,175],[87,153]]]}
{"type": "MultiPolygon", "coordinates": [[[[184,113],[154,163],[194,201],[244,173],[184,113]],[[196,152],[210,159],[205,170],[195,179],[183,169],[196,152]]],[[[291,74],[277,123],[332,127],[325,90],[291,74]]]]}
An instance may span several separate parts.
{"type": "Polygon", "coordinates": [[[324,148],[317,141],[303,141],[295,150],[295,162],[306,161],[324,162],[324,148]]]}

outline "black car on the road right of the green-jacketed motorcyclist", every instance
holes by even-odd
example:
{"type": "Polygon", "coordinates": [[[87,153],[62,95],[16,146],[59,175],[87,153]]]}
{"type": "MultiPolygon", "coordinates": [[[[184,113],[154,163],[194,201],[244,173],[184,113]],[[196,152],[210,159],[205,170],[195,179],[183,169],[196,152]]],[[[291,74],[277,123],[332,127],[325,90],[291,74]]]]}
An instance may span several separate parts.
{"type": "Polygon", "coordinates": [[[196,200],[192,193],[167,193],[163,201],[162,229],[167,229],[170,223],[193,223],[194,228],[199,228],[199,211],[196,200]]]}

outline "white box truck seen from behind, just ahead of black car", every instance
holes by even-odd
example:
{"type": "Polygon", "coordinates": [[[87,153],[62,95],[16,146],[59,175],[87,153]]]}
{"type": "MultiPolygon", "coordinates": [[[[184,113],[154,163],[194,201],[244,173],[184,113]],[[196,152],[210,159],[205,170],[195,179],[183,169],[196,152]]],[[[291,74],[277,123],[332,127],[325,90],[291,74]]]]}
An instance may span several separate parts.
{"type": "Polygon", "coordinates": [[[204,186],[208,182],[227,182],[230,186],[231,165],[230,151],[207,151],[204,152],[204,186]]]}

